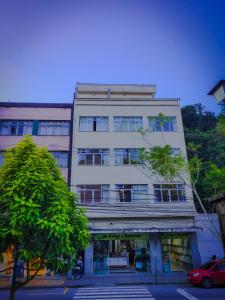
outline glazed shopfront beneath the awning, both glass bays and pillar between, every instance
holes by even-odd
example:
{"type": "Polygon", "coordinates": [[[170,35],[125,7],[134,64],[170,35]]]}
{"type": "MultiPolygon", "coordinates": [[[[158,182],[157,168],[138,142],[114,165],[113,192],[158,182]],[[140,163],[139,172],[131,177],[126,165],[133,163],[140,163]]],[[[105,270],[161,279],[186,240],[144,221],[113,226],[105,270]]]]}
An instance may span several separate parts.
{"type": "MultiPolygon", "coordinates": [[[[193,268],[193,233],[94,234],[86,273],[174,272],[193,268]]],[[[194,255],[195,256],[195,255],[194,255]]],[[[194,257],[195,259],[195,257],[194,257]]]]}

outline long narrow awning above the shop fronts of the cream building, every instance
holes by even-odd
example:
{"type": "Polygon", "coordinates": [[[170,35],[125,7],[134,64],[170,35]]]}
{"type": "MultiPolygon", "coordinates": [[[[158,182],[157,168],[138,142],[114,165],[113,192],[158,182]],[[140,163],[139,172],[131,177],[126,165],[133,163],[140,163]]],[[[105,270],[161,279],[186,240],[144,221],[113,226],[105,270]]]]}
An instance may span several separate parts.
{"type": "Polygon", "coordinates": [[[174,228],[160,228],[160,227],[151,227],[151,228],[126,228],[126,229],[91,229],[90,233],[150,233],[150,232],[197,232],[202,231],[202,227],[191,226],[191,227],[174,227],[174,228]]]}

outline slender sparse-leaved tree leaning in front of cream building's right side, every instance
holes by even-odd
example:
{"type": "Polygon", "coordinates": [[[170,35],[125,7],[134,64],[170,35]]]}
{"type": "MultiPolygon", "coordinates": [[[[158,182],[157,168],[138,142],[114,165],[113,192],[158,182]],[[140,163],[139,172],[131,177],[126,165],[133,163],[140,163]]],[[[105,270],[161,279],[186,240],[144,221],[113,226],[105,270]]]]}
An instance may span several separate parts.
{"type": "MultiPolygon", "coordinates": [[[[168,119],[163,118],[162,114],[159,114],[158,118],[162,123],[164,122],[164,120],[166,122],[168,119]]],[[[142,149],[140,151],[141,161],[143,162],[143,164],[140,165],[139,168],[142,168],[142,170],[144,170],[143,173],[148,177],[154,175],[164,181],[176,180],[186,185],[192,190],[200,205],[201,210],[205,214],[207,214],[207,210],[197,189],[197,183],[202,170],[202,161],[196,154],[196,152],[198,151],[198,146],[196,146],[194,143],[189,144],[189,151],[193,151],[193,156],[188,162],[186,157],[181,153],[175,155],[170,145],[152,147],[151,143],[149,142],[150,139],[148,139],[148,130],[141,130],[141,134],[143,139],[147,142],[147,145],[150,146],[150,149],[142,149]],[[190,178],[188,174],[190,174],[190,178]]],[[[211,224],[210,230],[218,238],[218,240],[222,242],[221,234],[217,231],[216,227],[209,217],[208,221],[211,224]]]]}

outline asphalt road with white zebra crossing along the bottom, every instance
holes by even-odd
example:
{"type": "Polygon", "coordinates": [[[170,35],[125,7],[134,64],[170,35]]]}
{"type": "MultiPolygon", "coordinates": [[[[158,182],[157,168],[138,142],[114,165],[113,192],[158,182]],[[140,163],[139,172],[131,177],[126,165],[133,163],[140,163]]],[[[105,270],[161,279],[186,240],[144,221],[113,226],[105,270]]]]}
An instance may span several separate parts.
{"type": "MultiPolygon", "coordinates": [[[[9,291],[0,290],[0,300],[8,300],[9,291]]],[[[23,289],[16,300],[225,300],[225,287],[205,290],[190,285],[132,285],[87,288],[23,289]]]]}

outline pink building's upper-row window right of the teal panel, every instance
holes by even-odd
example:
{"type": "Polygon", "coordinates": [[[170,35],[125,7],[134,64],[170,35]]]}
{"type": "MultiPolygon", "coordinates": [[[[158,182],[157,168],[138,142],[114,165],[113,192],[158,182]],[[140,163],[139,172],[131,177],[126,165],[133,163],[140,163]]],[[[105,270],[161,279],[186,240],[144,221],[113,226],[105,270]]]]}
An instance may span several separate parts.
{"type": "Polygon", "coordinates": [[[70,122],[40,121],[38,135],[69,135],[70,122]]]}

